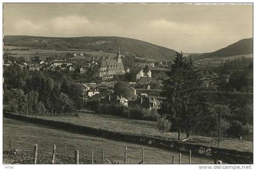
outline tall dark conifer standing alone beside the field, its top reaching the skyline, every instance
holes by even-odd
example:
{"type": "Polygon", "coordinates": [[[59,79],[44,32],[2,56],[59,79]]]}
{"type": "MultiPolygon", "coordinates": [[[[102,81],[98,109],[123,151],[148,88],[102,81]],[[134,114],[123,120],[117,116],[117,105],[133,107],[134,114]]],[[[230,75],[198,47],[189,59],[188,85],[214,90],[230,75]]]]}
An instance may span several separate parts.
{"type": "Polygon", "coordinates": [[[183,57],[182,52],[176,53],[169,79],[163,80],[162,102],[160,113],[168,115],[174,122],[180,140],[180,133],[185,131],[189,136],[193,119],[199,114],[200,103],[197,93],[201,84],[200,74],[191,57],[183,57]]]}

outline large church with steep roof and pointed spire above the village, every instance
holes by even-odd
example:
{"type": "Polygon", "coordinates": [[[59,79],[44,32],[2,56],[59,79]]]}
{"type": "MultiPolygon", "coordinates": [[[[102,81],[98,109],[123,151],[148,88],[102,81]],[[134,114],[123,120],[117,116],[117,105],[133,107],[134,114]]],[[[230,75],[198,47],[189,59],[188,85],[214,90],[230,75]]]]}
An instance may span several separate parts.
{"type": "Polygon", "coordinates": [[[109,77],[117,74],[125,74],[119,46],[116,58],[101,60],[101,68],[99,69],[99,77],[102,77],[103,80],[110,79],[109,77]]]}

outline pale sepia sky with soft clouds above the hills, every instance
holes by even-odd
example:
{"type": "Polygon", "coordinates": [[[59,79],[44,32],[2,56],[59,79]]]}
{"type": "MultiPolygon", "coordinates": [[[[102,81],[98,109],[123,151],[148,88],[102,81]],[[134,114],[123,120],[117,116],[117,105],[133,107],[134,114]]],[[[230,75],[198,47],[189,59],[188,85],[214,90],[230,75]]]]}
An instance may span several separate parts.
{"type": "Polygon", "coordinates": [[[183,52],[252,37],[252,4],[7,4],[4,35],[119,36],[183,52]]]}

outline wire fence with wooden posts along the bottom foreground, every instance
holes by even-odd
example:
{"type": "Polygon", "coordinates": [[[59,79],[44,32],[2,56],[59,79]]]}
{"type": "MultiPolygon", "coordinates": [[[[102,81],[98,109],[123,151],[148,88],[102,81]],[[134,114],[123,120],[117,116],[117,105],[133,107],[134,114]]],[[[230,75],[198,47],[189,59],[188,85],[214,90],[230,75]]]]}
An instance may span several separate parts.
{"type": "MultiPolygon", "coordinates": [[[[143,147],[136,146],[124,146],[120,148],[120,152],[113,152],[112,149],[108,147],[94,147],[89,145],[79,145],[79,146],[70,146],[66,145],[65,142],[58,143],[57,145],[52,144],[51,141],[43,141],[40,144],[35,142],[20,143],[18,139],[10,138],[9,140],[4,140],[4,151],[20,151],[20,152],[28,152],[29,156],[26,157],[28,160],[26,163],[34,163],[35,156],[33,156],[36,152],[37,160],[36,163],[96,163],[96,164],[143,164],[144,157],[148,160],[147,163],[151,163],[150,157],[148,157],[150,150],[144,149],[143,147]],[[9,142],[8,142],[9,141],[9,142]],[[36,145],[36,146],[35,146],[36,145]],[[55,147],[54,147],[55,146],[55,147]],[[37,151],[35,151],[35,147],[37,147],[37,151]],[[78,151],[78,155],[76,154],[78,151]],[[54,155],[54,156],[53,156],[54,155]],[[54,158],[53,158],[54,157],[54,158]],[[52,160],[55,159],[55,160],[52,160]],[[78,161],[76,161],[78,159],[78,161]]],[[[158,155],[157,155],[158,156],[158,155]]],[[[161,156],[161,155],[159,155],[161,156]]],[[[22,158],[23,159],[23,158],[22,158]]],[[[191,161],[191,153],[190,156],[186,156],[182,159],[179,156],[176,156],[176,163],[182,163],[182,161],[186,161],[185,163],[190,163],[191,161]]],[[[23,161],[24,162],[24,161],[23,161]]],[[[21,162],[21,163],[23,163],[21,162]]],[[[18,162],[16,162],[18,163],[18,162]]],[[[174,163],[169,159],[169,163],[174,163]]]]}

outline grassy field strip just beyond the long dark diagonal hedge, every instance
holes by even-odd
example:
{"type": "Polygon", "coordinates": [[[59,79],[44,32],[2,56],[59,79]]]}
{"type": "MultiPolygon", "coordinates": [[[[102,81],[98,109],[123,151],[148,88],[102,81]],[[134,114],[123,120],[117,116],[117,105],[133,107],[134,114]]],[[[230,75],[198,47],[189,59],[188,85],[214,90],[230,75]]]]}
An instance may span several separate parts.
{"type": "MultiPolygon", "coordinates": [[[[160,136],[160,132],[157,130],[156,122],[141,121],[135,119],[126,119],[118,116],[111,115],[96,115],[91,113],[79,113],[80,117],[46,117],[40,118],[49,119],[54,121],[70,122],[78,124],[80,126],[93,127],[98,129],[110,130],[113,132],[132,133],[139,135],[151,135],[160,136]]],[[[182,138],[185,138],[185,134],[182,134],[182,138]]],[[[165,133],[165,138],[177,139],[177,133],[169,132],[165,133]]],[[[210,137],[191,135],[196,144],[202,144],[204,146],[216,146],[216,143],[210,137]]],[[[237,151],[253,151],[252,141],[240,141],[238,138],[226,138],[220,143],[221,148],[235,149],[237,151]]]]}

